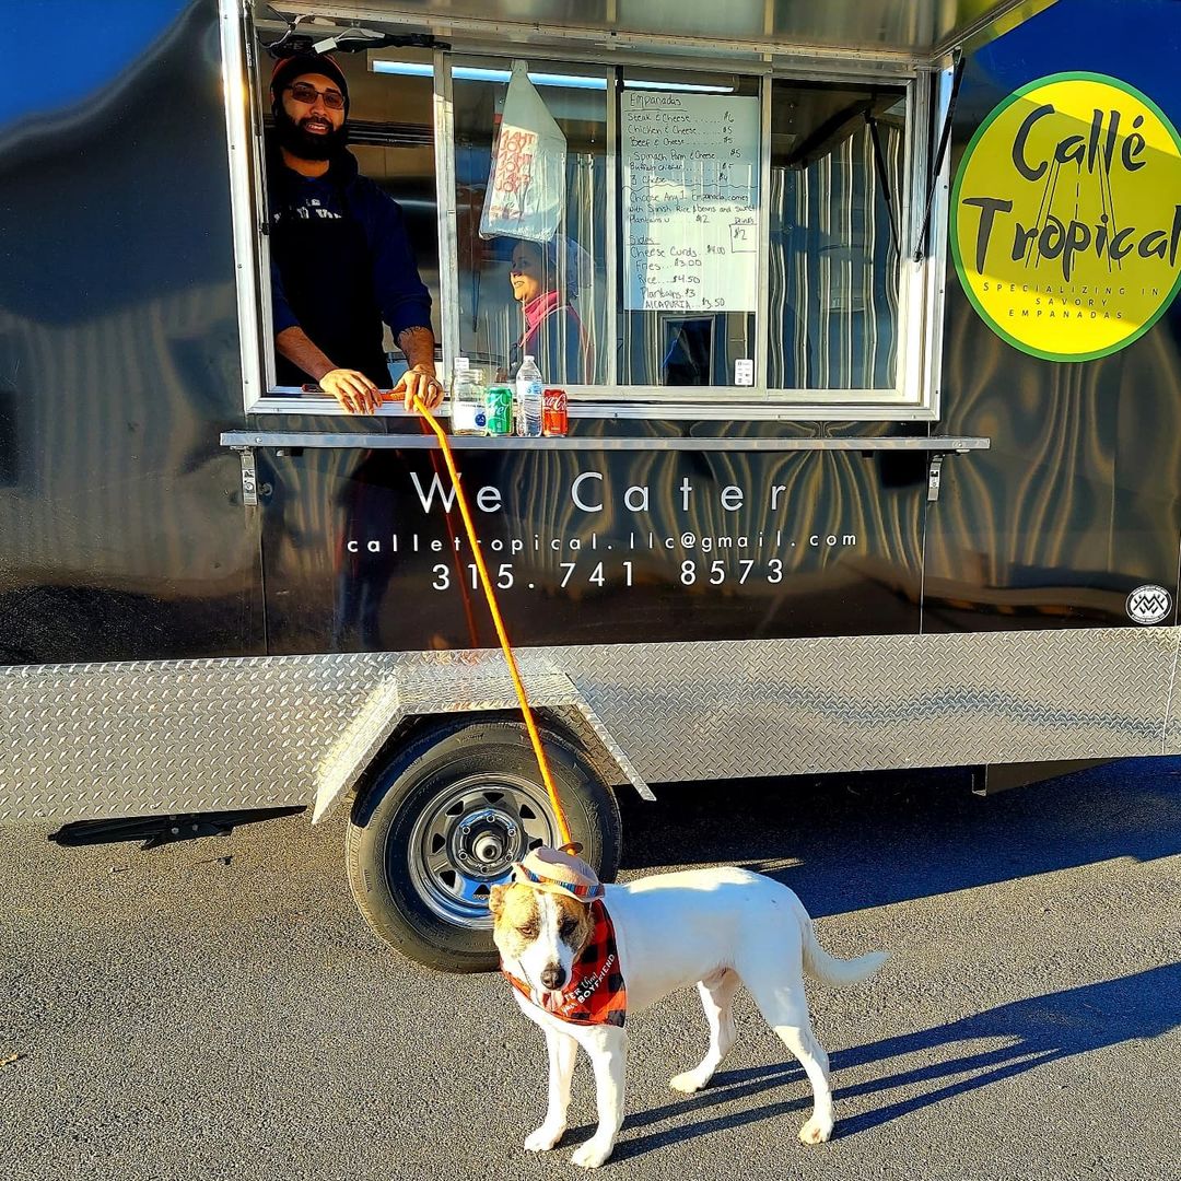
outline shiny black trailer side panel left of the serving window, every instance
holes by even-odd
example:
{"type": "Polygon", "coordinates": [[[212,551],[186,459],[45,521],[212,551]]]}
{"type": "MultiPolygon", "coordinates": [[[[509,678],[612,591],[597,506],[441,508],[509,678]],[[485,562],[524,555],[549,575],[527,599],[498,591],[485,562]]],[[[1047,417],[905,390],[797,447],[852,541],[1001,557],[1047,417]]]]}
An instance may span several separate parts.
{"type": "Polygon", "coordinates": [[[261,653],[216,4],[5,18],[0,663],[261,653]]]}

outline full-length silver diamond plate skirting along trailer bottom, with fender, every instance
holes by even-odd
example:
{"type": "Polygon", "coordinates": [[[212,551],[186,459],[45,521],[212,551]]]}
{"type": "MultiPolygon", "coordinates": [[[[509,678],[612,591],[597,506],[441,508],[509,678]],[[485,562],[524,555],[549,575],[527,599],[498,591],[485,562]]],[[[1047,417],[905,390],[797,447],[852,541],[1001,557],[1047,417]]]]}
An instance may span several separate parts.
{"type": "MultiPolygon", "coordinates": [[[[530,699],[614,782],[1181,752],[1181,628],[557,647],[530,699]],[[598,746],[594,744],[598,743],[598,746]]],[[[511,709],[498,652],[0,670],[0,818],[342,798],[411,715],[511,709]]]]}

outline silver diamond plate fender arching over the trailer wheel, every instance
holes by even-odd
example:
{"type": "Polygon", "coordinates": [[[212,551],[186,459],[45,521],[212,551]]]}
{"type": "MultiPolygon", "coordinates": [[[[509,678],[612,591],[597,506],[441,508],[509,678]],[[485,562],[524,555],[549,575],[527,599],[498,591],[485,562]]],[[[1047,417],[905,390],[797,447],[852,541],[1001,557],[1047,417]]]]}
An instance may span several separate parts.
{"type": "MultiPolygon", "coordinates": [[[[518,665],[530,706],[561,720],[600,768],[616,769],[618,774],[608,778],[631,783],[644,800],[655,800],[590,703],[561,668],[527,652],[520,654],[518,665]]],[[[350,794],[403,722],[424,715],[518,709],[508,664],[500,652],[425,653],[420,663],[399,663],[374,685],[317,768],[312,823],[324,820],[350,794]]]]}

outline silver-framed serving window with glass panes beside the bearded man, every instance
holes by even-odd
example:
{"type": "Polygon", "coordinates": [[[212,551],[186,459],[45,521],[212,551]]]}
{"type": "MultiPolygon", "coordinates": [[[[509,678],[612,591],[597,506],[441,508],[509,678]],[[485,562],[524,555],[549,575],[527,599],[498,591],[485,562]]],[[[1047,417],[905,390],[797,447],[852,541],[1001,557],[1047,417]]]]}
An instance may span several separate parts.
{"type": "MultiPolygon", "coordinates": [[[[938,285],[908,257],[925,79],[544,53],[337,56],[350,149],[403,208],[442,377],[459,358],[510,377],[528,354],[574,417],[931,417],[938,285]],[[537,176],[542,211],[514,208],[537,176]]],[[[248,409],[331,412],[274,385],[266,235],[254,246],[267,393],[248,409]]],[[[389,329],[385,347],[392,384],[389,329]]]]}

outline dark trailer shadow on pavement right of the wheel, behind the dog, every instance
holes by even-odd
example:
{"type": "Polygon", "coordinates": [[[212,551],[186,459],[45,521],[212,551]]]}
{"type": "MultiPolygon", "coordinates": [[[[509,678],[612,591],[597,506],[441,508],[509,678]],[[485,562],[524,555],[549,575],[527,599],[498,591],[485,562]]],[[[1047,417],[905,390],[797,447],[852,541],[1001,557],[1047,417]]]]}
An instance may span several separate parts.
{"type": "Polygon", "coordinates": [[[1113,857],[1181,852],[1181,759],[1127,759],[999,796],[964,769],[621,789],[624,870],[727,862],[791,886],[813,916],[1113,857]]]}

